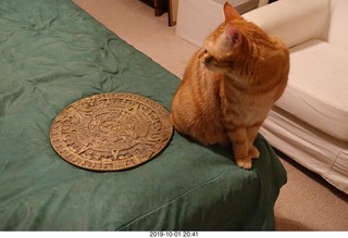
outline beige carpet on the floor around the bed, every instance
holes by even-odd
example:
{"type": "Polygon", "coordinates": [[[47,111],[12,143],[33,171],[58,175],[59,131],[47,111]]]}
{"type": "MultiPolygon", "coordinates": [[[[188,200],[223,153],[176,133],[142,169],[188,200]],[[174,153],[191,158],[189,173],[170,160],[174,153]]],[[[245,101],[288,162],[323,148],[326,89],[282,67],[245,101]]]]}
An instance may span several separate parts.
{"type": "MultiPolygon", "coordinates": [[[[116,35],[182,77],[197,47],[175,36],[167,15],[138,0],[74,0],[116,35]]],[[[275,204],[277,230],[348,230],[348,197],[279,154],[288,183],[275,204]]]]}

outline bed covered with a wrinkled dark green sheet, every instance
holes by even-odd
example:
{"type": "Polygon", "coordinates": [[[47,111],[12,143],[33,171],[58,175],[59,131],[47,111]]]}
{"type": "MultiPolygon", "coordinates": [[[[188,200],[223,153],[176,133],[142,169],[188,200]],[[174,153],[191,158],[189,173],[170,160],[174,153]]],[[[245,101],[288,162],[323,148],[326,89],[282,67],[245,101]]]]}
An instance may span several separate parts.
{"type": "Polygon", "coordinates": [[[170,111],[179,79],[70,0],[1,0],[0,28],[0,230],[274,229],[286,171],[262,135],[250,171],[176,131],[125,171],[62,160],[49,135],[65,107],[129,92],[170,111]]]}

